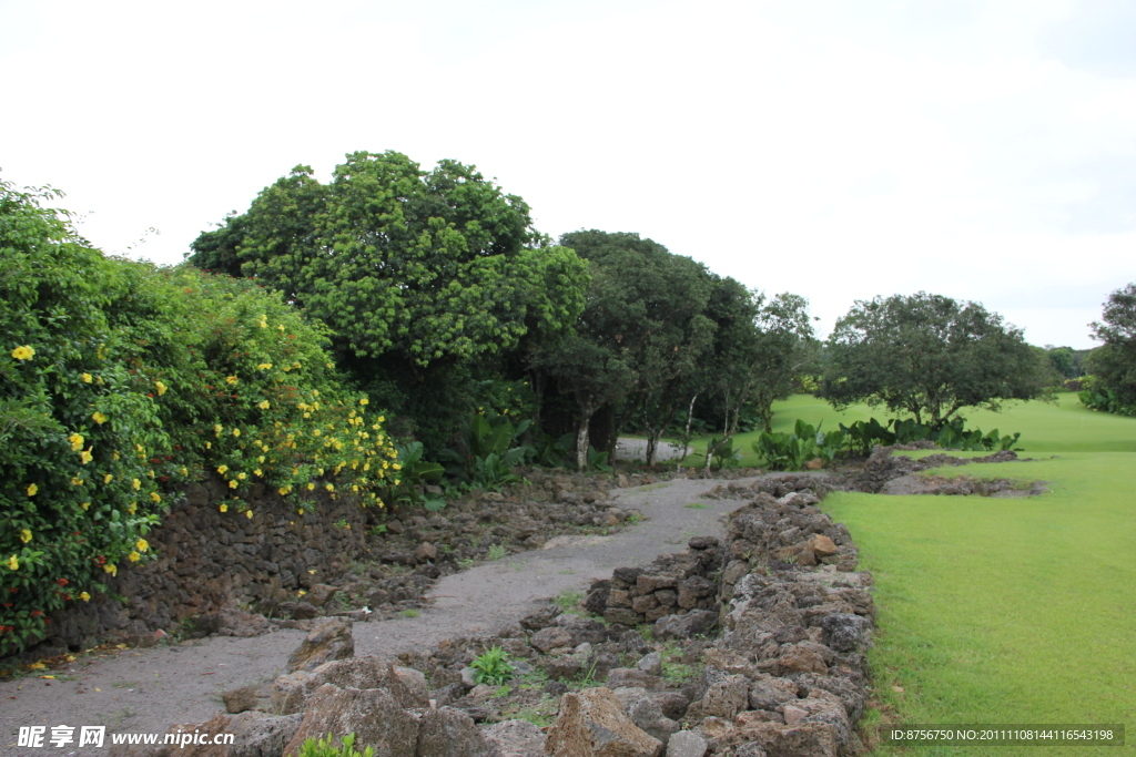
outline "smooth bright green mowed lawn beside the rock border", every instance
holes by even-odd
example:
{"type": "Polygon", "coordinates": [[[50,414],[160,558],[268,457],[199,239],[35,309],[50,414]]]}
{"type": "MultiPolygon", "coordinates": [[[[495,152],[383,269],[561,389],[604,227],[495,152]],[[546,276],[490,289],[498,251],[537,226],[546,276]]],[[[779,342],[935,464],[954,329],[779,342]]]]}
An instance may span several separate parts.
{"type": "MultiPolygon", "coordinates": [[[[867,419],[813,397],[776,406],[825,428],[867,419]]],[[[884,413],[876,411],[883,419],[884,413]]],[[[837,493],[824,503],[847,524],[876,580],[868,722],[1120,723],[1126,747],[878,746],[896,755],[1136,754],[1136,419],[1018,403],[971,412],[969,426],[1021,431],[1033,462],[937,474],[1051,482],[1041,497],[888,497],[837,493]]],[[[745,435],[752,437],[753,435],[745,435]]],[[[750,439],[740,439],[750,452],[750,439]]],[[[747,464],[755,462],[752,452],[747,464]]]]}

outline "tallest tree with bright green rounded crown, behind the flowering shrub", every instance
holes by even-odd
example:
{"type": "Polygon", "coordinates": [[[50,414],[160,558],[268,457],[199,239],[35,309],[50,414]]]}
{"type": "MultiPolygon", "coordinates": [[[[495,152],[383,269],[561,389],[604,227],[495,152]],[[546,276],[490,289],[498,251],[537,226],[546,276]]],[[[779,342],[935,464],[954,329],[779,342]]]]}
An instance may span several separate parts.
{"type": "Polygon", "coordinates": [[[191,246],[194,266],[253,277],[327,323],[341,362],[435,448],[468,411],[471,372],[570,328],[588,280],[520,197],[398,152],[349,154],[327,184],[299,166],[191,246]]]}

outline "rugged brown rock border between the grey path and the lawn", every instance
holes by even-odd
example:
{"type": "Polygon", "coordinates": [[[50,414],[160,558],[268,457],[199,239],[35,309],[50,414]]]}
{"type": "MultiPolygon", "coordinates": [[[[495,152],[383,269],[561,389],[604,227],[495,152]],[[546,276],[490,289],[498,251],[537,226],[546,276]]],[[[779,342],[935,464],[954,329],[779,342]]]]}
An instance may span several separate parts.
{"type": "Polygon", "coordinates": [[[117,754],[294,755],[326,732],[400,757],[859,754],[871,578],[853,571],[847,531],[817,502],[811,490],[759,493],[730,515],[724,544],[692,539],[683,554],[618,569],[582,603],[603,621],[549,605],[495,637],[399,661],[353,658],[350,619],[316,621],[293,672],[227,692],[231,714],[172,729],[235,733],[233,748],[117,754]],[[495,646],[517,678],[477,684],[469,664],[495,646]]]}

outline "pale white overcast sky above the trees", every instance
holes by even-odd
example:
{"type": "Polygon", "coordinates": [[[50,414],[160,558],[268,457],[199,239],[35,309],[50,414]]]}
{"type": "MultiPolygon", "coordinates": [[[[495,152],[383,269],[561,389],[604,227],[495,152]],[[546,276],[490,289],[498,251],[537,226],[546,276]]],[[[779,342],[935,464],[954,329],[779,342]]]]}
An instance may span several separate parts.
{"type": "Polygon", "coordinates": [[[1086,347],[1136,280],[1134,40],[1131,0],[0,0],[0,178],[173,263],[298,163],[453,158],[822,333],[925,289],[1086,347]]]}

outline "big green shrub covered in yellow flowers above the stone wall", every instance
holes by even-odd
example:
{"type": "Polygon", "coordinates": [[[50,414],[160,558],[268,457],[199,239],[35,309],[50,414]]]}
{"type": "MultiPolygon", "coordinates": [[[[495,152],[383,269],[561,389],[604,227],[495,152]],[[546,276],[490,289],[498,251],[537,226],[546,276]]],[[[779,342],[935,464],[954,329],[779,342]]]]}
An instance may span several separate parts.
{"type": "Polygon", "coordinates": [[[348,392],[324,334],[278,295],[107,259],[51,193],[0,183],[0,655],[147,561],[178,487],[207,472],[229,516],[265,489],[382,504],[383,418],[348,392]]]}

